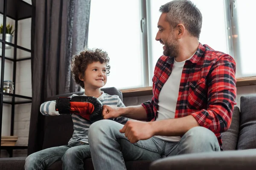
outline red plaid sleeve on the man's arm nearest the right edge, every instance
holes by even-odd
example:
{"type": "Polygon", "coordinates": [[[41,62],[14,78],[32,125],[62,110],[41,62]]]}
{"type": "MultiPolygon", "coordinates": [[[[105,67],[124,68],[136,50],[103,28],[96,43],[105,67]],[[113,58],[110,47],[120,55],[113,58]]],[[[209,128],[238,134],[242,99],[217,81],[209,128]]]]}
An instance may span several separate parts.
{"type": "Polygon", "coordinates": [[[231,124],[234,105],[236,105],[236,62],[224,54],[212,65],[209,71],[207,109],[191,115],[200,126],[214,133],[226,131],[231,124]]]}

